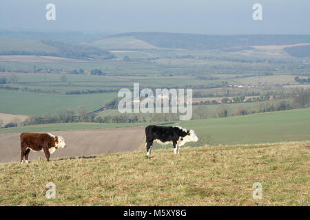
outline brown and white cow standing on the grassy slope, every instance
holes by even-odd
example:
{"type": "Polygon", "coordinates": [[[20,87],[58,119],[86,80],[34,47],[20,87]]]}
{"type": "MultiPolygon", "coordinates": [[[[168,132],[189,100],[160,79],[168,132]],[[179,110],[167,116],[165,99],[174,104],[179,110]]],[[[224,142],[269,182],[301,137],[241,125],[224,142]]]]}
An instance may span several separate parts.
{"type": "Polygon", "coordinates": [[[61,136],[55,136],[51,133],[21,133],[21,164],[23,157],[28,164],[28,154],[31,151],[43,151],[46,159],[50,161],[50,154],[56,151],[56,148],[65,148],[65,140],[61,136]]]}

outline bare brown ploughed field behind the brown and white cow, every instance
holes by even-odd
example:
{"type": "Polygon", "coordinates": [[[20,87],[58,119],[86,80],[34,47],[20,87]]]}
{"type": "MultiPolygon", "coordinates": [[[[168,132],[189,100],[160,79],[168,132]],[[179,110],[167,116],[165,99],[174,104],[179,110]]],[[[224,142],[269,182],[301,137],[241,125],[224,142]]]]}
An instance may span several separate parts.
{"type": "MultiPolygon", "coordinates": [[[[135,151],[141,148],[145,136],[143,127],[51,133],[63,136],[67,147],[57,149],[50,159],[135,151]]],[[[0,163],[19,161],[21,148],[19,135],[20,133],[0,134],[0,163]]],[[[43,152],[30,152],[28,159],[31,161],[38,157],[45,159],[43,152]]]]}

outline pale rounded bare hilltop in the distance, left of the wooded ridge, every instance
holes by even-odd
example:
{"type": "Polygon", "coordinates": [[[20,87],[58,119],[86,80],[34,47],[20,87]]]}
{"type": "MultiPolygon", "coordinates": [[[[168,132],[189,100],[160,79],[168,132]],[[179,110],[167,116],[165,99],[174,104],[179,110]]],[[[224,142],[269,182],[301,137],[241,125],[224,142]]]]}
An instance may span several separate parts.
{"type": "Polygon", "coordinates": [[[134,36],[112,37],[100,41],[94,41],[88,45],[105,50],[149,50],[156,48],[154,45],[136,39],[134,36]]]}

